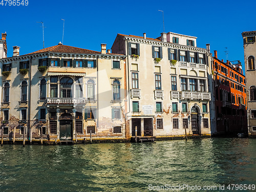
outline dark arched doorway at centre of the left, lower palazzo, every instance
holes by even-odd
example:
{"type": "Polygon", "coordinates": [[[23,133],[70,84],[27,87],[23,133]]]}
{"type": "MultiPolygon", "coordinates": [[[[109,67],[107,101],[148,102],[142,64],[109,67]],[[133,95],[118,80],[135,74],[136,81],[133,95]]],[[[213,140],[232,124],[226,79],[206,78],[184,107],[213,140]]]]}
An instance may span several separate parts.
{"type": "Polygon", "coordinates": [[[59,139],[71,140],[73,130],[73,116],[69,113],[63,113],[59,121],[59,139]]]}

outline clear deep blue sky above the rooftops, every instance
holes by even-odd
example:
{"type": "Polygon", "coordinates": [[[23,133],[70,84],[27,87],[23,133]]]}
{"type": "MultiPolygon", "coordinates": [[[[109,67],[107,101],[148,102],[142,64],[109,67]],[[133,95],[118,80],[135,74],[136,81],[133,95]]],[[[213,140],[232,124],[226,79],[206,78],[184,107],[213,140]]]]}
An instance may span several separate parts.
{"type": "MultiPolygon", "coordinates": [[[[0,0],[2,1],[2,0],[0,0]]],[[[62,41],[65,19],[64,45],[100,51],[100,44],[110,49],[117,33],[156,38],[163,32],[175,32],[198,37],[197,46],[218,58],[241,60],[244,66],[243,31],[256,30],[253,8],[256,1],[35,1],[28,6],[0,5],[0,33],[7,32],[8,57],[12,46],[20,47],[20,54],[42,49],[44,22],[45,47],[62,41]]],[[[244,67],[243,67],[244,68],[244,67]]]]}

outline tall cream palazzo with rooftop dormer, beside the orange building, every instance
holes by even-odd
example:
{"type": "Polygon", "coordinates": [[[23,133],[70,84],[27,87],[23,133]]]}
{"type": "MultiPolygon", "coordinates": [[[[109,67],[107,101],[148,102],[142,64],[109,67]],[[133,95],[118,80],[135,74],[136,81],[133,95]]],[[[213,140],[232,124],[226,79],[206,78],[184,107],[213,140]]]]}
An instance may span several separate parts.
{"type": "Polygon", "coordinates": [[[130,137],[210,136],[210,53],[197,37],[161,33],[161,37],[117,34],[112,53],[126,60],[130,137]]]}

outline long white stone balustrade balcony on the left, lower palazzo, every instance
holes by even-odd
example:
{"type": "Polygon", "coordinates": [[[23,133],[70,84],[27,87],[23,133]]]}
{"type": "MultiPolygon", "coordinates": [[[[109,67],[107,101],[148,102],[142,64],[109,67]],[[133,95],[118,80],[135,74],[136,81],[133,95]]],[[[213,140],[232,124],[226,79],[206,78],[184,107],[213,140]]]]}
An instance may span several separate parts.
{"type": "Polygon", "coordinates": [[[85,98],[47,98],[47,104],[86,104],[85,98]]]}

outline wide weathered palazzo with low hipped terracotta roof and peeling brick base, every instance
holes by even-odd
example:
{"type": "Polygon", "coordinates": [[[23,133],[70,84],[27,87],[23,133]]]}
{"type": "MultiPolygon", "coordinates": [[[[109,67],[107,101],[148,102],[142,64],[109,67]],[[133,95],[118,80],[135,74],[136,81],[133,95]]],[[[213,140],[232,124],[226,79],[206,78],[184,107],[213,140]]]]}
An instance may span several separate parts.
{"type": "Polygon", "coordinates": [[[0,59],[5,140],[125,140],[125,56],[58,44],[0,59]]]}

